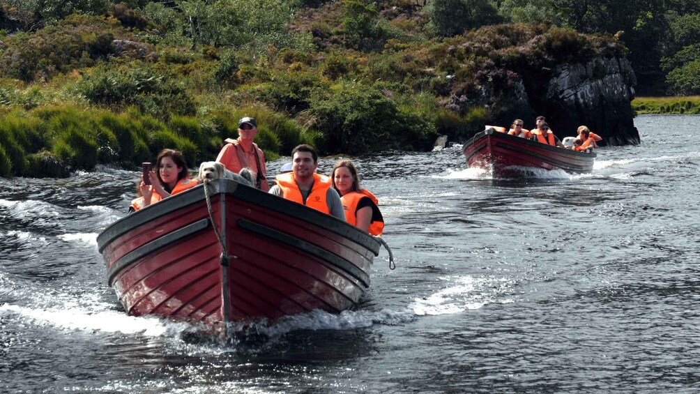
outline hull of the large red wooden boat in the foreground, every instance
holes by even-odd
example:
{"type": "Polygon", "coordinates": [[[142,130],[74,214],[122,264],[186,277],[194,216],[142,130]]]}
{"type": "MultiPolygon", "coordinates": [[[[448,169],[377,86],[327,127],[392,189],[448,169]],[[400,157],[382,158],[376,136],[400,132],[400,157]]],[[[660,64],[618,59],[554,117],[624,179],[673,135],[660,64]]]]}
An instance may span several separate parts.
{"type": "Polygon", "coordinates": [[[230,179],[206,187],[211,211],[200,185],[97,237],[128,314],[182,318],[225,336],[230,323],[356,306],[377,239],[230,179]]]}

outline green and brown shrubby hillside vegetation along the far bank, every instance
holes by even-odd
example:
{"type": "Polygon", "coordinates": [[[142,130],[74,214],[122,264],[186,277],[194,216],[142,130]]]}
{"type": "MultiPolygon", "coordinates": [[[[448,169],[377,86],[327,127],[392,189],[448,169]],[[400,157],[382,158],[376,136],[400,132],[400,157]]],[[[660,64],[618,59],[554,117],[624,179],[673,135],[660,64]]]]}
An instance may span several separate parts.
{"type": "Polygon", "coordinates": [[[267,157],[423,149],[507,108],[516,76],[594,56],[700,94],[697,1],[591,3],[0,0],[0,176],[132,167],[165,146],[196,164],[241,115],[267,157]]]}

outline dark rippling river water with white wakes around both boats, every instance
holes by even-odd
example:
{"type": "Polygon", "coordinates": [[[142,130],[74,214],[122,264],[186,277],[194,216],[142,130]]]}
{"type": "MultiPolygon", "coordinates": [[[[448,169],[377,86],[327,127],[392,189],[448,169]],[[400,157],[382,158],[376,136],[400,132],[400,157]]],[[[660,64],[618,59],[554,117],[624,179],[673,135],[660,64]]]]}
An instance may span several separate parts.
{"type": "Polygon", "coordinates": [[[0,179],[0,392],[697,393],[700,117],[635,123],[580,176],[493,181],[459,146],[358,160],[397,268],[382,251],[357,311],[232,344],[106,286],[95,239],[137,171],[0,179]]]}

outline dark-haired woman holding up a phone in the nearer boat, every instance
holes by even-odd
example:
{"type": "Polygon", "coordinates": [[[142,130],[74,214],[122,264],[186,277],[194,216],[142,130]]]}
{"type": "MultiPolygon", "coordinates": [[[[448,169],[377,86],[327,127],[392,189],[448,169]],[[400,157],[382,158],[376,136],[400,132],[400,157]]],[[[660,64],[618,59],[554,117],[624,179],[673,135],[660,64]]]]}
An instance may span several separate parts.
{"type": "Polygon", "coordinates": [[[141,208],[159,202],[161,199],[193,188],[198,184],[197,180],[190,179],[185,157],[177,150],[161,150],[158,154],[158,159],[155,160],[155,168],[158,169],[158,172],[151,171],[148,173],[148,179],[151,181],[150,185],[146,184],[144,176],[141,175],[141,182],[139,183],[141,197],[137,197],[132,201],[130,212],[132,209],[138,211],[141,208]]]}

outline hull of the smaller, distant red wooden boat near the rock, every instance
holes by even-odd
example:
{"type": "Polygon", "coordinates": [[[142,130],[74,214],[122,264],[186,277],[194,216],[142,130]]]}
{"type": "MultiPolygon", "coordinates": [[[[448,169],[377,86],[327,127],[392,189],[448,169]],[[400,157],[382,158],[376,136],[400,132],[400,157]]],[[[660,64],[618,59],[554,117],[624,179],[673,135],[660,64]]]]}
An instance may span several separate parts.
{"type": "Polygon", "coordinates": [[[531,174],[532,169],[563,169],[586,173],[593,170],[596,153],[578,152],[549,146],[518,136],[486,129],[463,146],[469,167],[490,171],[494,177],[507,178],[531,174]]]}

